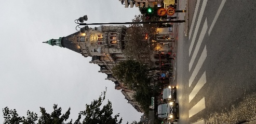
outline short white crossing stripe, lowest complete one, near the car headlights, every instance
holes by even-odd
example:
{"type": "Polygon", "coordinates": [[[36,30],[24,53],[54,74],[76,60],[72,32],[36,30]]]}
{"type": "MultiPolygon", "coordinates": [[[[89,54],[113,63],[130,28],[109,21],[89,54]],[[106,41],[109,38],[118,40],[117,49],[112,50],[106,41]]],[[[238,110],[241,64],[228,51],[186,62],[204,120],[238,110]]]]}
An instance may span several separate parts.
{"type": "Polygon", "coordinates": [[[189,111],[188,111],[188,116],[192,117],[193,115],[199,113],[200,111],[205,109],[205,97],[201,99],[198,103],[196,103],[195,106],[193,106],[189,111]]]}

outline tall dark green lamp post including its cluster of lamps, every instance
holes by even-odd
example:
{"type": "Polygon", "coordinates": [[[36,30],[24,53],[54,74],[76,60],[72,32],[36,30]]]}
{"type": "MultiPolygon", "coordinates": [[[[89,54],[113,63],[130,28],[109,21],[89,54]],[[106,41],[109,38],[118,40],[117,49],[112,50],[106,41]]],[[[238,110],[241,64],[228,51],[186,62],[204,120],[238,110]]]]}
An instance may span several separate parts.
{"type": "MultiPolygon", "coordinates": [[[[79,27],[79,25],[86,25],[83,28],[80,28],[80,32],[84,33],[85,30],[88,30],[88,25],[105,25],[105,24],[159,24],[159,23],[183,23],[185,20],[176,20],[176,21],[149,21],[149,22],[111,22],[111,23],[84,23],[84,21],[87,21],[88,17],[87,15],[84,15],[84,17],[80,17],[79,19],[75,20],[75,23],[78,24],[76,26],[79,27]],[[79,23],[79,22],[80,23],[79,23]]],[[[77,29],[76,29],[77,30],[77,29]]]]}

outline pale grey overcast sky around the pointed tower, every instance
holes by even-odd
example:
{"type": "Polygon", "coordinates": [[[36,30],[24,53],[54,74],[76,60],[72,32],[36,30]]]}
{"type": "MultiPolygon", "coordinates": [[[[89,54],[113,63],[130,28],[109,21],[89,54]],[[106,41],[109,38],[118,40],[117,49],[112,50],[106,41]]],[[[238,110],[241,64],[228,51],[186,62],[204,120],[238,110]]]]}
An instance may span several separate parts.
{"type": "MultiPolygon", "coordinates": [[[[91,57],[42,43],[75,33],[74,20],[85,14],[87,23],[130,22],[139,10],[125,8],[118,0],[0,0],[1,109],[16,108],[26,117],[28,110],[40,114],[39,107],[45,107],[51,113],[58,104],[62,113],[71,107],[74,121],[107,87],[114,114],[120,113],[123,123],[140,120],[143,113],[105,80],[98,65],[89,64],[91,57]]],[[[2,111],[0,116],[2,123],[2,111]]]]}

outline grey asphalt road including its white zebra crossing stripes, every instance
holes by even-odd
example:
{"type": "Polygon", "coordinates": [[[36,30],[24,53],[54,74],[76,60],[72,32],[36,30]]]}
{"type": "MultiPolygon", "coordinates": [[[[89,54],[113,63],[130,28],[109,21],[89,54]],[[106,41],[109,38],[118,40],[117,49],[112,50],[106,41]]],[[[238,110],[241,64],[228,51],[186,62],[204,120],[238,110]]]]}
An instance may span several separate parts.
{"type": "MultiPolygon", "coordinates": [[[[180,0],[179,9],[186,3],[180,0]]],[[[187,36],[186,24],[178,26],[178,123],[206,123],[256,92],[254,7],[253,0],[189,1],[187,36]]]]}

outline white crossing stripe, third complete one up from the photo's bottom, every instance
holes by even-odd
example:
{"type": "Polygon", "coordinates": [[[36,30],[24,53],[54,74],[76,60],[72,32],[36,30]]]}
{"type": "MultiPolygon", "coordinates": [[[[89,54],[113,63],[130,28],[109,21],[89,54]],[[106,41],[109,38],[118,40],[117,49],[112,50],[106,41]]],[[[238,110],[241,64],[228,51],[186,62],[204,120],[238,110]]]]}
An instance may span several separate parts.
{"type": "Polygon", "coordinates": [[[200,58],[198,60],[196,68],[195,68],[195,70],[193,71],[193,73],[192,73],[192,75],[190,77],[190,80],[189,80],[189,83],[188,83],[190,86],[191,86],[192,82],[194,81],[197,73],[199,72],[201,66],[203,65],[206,57],[207,57],[207,51],[206,51],[206,46],[205,46],[205,48],[204,48],[204,50],[203,50],[203,52],[202,52],[202,54],[201,54],[201,56],[200,56],[200,58]]]}

